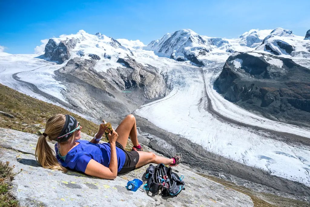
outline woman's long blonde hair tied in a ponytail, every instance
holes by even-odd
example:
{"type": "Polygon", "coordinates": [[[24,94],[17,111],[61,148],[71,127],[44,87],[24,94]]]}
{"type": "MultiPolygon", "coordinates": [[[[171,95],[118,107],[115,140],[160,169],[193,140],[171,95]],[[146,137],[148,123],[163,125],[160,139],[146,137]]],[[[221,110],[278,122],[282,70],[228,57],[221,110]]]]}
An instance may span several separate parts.
{"type": "MultiPolygon", "coordinates": [[[[64,127],[65,121],[66,116],[63,114],[54,115],[47,120],[44,133],[47,134],[49,140],[57,141],[57,137],[59,136],[62,128],[64,127]]],[[[66,144],[70,141],[72,143],[74,140],[73,137],[74,135],[72,135],[72,137],[70,137],[68,141],[63,143],[66,144]]],[[[60,150],[60,145],[58,142],[57,145],[58,149],[60,150]]],[[[46,137],[44,135],[41,135],[39,137],[36,150],[34,153],[36,160],[43,168],[62,170],[63,172],[68,171],[58,162],[54,150],[52,150],[52,148],[48,145],[46,137]]]]}

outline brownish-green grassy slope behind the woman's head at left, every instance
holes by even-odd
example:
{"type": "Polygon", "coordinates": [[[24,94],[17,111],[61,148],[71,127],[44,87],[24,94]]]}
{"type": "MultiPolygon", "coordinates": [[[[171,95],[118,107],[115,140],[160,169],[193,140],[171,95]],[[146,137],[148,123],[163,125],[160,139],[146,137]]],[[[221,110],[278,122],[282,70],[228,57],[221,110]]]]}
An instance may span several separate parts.
{"type": "Polygon", "coordinates": [[[82,131],[90,136],[98,131],[99,126],[59,106],[29,97],[0,84],[0,111],[13,115],[9,118],[0,114],[0,127],[18,131],[40,134],[47,119],[55,114],[69,114],[74,116],[83,126],[82,131]],[[27,125],[26,125],[27,124],[27,125]],[[40,126],[33,126],[40,124],[40,126]]]}

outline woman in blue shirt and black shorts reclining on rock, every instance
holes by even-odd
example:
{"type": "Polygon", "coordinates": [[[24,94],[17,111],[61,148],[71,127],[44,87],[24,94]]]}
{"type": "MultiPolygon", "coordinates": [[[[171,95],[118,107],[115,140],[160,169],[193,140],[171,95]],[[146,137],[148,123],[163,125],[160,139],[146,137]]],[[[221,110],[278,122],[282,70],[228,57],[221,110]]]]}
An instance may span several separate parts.
{"type": "Polygon", "coordinates": [[[62,114],[52,116],[47,120],[45,131],[38,139],[36,159],[43,168],[66,172],[68,167],[106,179],[114,179],[117,174],[129,172],[148,163],[175,166],[181,162],[180,153],[168,159],[153,152],[144,152],[138,142],[134,115],[126,116],[115,130],[112,128],[112,133],[109,131],[108,143],[98,144],[106,128],[104,124],[100,124],[98,133],[88,142],[80,140],[82,126],[75,118],[62,114]],[[56,156],[47,144],[46,137],[57,141],[56,156]],[[131,151],[125,150],[128,137],[134,145],[131,151]]]}

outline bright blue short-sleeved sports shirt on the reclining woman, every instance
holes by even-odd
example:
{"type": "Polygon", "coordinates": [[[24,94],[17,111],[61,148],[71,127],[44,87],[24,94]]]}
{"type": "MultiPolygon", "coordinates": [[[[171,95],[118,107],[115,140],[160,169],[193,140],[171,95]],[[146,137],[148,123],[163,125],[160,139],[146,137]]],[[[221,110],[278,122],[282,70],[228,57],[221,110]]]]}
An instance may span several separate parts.
{"type": "MultiPolygon", "coordinates": [[[[105,167],[109,167],[111,158],[111,147],[109,143],[94,144],[86,140],[78,140],[77,146],[70,150],[65,159],[61,159],[58,153],[57,143],[55,144],[56,158],[64,167],[78,170],[85,173],[88,162],[93,159],[105,167]]],[[[126,155],[125,152],[116,147],[117,172],[124,166],[126,155]]]]}

